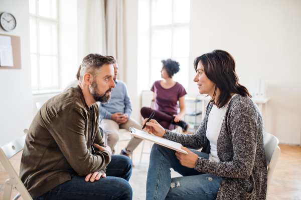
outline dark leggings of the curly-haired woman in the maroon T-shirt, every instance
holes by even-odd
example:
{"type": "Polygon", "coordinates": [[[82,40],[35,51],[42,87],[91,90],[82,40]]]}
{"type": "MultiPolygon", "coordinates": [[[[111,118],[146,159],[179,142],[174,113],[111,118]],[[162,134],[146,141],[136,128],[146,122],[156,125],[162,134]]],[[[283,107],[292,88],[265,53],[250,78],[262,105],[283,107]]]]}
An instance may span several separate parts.
{"type": "Polygon", "coordinates": [[[150,107],[142,107],[140,112],[143,118],[148,118],[153,111],[155,111],[153,119],[158,121],[160,125],[162,125],[162,127],[164,127],[165,129],[169,129],[169,126],[172,123],[174,116],[171,116],[159,110],[152,109],[150,107]]]}

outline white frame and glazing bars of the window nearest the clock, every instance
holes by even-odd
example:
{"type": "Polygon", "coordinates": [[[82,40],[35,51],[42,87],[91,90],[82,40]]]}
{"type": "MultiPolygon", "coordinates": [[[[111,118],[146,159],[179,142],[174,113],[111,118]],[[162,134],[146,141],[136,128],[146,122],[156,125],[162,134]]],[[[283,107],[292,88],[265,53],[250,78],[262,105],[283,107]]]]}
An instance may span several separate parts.
{"type": "MultiPolygon", "coordinates": [[[[38,87],[32,87],[32,91],[41,91],[41,90],[52,90],[52,89],[59,89],[60,88],[60,52],[59,52],[59,2],[58,0],[56,0],[56,18],[51,18],[51,17],[45,17],[45,16],[41,16],[39,15],[39,0],[35,0],[36,1],[36,13],[33,14],[29,11],[30,14],[30,19],[35,19],[35,23],[36,23],[36,53],[33,53],[30,51],[30,55],[35,54],[37,56],[37,75],[38,75],[38,87]],[[57,86],[52,86],[52,87],[41,87],[41,70],[40,70],[40,56],[45,55],[45,54],[41,54],[40,53],[40,22],[46,22],[46,23],[52,23],[55,24],[56,26],[56,37],[57,37],[57,54],[49,54],[47,56],[56,56],[57,57],[57,76],[58,76],[58,82],[57,82],[57,86]]],[[[32,65],[31,65],[32,67],[32,65]]]]}

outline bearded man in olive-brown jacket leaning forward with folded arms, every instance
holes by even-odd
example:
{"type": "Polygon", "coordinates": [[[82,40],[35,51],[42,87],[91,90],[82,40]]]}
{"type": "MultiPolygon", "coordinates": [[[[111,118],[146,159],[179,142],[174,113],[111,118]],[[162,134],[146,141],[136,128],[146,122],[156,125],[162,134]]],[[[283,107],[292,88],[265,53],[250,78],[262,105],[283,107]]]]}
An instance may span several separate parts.
{"type": "Polygon", "coordinates": [[[38,111],[22,154],[20,177],[34,199],[131,199],[132,162],[112,155],[98,128],[96,101],[108,103],[115,59],[84,57],[79,83],[38,111]]]}

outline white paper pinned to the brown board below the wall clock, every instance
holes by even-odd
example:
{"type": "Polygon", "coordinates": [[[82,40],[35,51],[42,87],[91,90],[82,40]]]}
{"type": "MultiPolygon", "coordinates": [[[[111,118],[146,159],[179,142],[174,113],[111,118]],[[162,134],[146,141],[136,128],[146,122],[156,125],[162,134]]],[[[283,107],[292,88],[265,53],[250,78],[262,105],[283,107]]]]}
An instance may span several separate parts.
{"type": "Polygon", "coordinates": [[[0,66],[14,66],[10,36],[0,35],[0,66]]]}

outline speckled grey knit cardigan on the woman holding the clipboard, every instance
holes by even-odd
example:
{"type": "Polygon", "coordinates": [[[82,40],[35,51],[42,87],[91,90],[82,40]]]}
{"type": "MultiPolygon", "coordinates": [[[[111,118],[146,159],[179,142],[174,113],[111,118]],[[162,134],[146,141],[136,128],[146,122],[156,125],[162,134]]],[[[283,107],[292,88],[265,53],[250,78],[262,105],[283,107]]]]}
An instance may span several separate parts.
{"type": "MultiPolygon", "coordinates": [[[[205,118],[194,134],[167,130],[164,138],[183,146],[210,153],[206,137],[207,122],[213,104],[206,107],[205,118]]],[[[199,157],[195,169],[223,177],[216,199],[265,199],[267,166],[263,143],[263,120],[250,97],[234,96],[227,108],[217,139],[219,162],[199,157]]]]}

